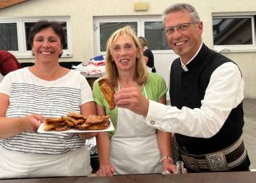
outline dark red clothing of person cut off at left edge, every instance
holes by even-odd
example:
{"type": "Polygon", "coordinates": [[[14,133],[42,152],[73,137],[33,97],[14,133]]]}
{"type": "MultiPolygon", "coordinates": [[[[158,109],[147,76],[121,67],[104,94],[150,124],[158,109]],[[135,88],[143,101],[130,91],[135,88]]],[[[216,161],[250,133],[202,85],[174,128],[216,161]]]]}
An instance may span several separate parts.
{"type": "Polygon", "coordinates": [[[21,68],[17,59],[7,51],[0,50],[0,73],[5,76],[11,71],[21,68]]]}

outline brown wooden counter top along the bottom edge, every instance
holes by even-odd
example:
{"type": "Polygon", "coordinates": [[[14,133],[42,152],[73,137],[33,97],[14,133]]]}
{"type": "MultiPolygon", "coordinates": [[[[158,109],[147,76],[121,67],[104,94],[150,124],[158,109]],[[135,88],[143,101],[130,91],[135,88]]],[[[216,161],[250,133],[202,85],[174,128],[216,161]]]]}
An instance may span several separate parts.
{"type": "Polygon", "coordinates": [[[38,179],[5,179],[0,183],[255,183],[256,172],[239,171],[200,174],[137,174],[114,177],[55,177],[38,179]]]}

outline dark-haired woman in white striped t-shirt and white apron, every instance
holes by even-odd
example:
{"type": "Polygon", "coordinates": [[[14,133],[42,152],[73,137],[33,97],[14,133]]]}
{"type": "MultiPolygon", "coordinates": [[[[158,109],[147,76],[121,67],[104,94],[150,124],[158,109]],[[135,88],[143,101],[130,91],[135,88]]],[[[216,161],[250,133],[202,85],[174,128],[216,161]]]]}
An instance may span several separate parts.
{"type": "Polygon", "coordinates": [[[85,138],[95,133],[36,133],[46,117],[95,115],[85,77],[59,66],[65,44],[57,22],[40,20],[29,37],[35,65],[4,76],[0,84],[0,179],[90,174],[85,138]]]}

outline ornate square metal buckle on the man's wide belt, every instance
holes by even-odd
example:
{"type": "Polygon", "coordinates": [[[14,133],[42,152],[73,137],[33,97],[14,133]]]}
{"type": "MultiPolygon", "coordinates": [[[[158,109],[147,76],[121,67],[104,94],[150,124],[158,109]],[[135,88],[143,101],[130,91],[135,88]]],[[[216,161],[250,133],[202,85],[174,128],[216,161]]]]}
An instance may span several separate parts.
{"type": "Polygon", "coordinates": [[[210,171],[228,171],[226,157],[223,152],[205,154],[210,171]]]}

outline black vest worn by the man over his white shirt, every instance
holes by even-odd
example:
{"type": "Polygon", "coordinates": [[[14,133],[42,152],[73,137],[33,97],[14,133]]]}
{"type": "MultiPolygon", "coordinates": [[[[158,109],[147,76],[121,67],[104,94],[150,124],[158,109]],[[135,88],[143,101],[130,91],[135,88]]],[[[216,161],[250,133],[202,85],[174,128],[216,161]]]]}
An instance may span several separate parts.
{"type": "MultiPolygon", "coordinates": [[[[189,71],[184,71],[181,67],[180,59],[176,58],[171,65],[171,105],[179,109],[182,109],[182,107],[200,108],[210,76],[216,68],[226,62],[232,61],[220,53],[210,50],[204,44],[196,57],[187,64],[189,71]]],[[[244,112],[241,102],[236,108],[231,110],[223,127],[213,137],[193,138],[176,134],[176,141],[187,153],[198,155],[213,153],[230,146],[238,140],[240,135],[242,135],[243,126],[244,112]]]]}

